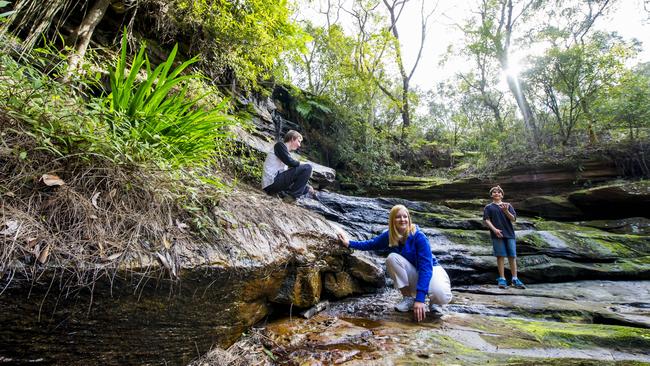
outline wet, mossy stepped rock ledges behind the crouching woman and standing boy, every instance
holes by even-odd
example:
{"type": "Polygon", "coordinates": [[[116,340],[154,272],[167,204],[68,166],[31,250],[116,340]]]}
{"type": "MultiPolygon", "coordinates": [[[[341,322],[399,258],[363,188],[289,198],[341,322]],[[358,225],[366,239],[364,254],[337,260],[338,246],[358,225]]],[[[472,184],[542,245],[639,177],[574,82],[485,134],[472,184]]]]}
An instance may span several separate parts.
{"type": "MultiPolygon", "coordinates": [[[[433,254],[453,284],[491,284],[497,277],[490,235],[483,226],[482,211],[476,208],[451,209],[399,198],[352,197],[330,192],[320,192],[318,200],[299,201],[299,205],[341,225],[357,240],[386,230],[388,212],[395,204],[410,210],[413,222],[429,238],[433,254]]],[[[645,220],[630,220],[589,224],[519,217],[515,230],[520,276],[536,283],[650,279],[650,237],[643,229],[645,220]],[[605,231],[597,227],[618,228],[626,223],[636,225],[635,233],[621,234],[616,229],[605,231]]]]}

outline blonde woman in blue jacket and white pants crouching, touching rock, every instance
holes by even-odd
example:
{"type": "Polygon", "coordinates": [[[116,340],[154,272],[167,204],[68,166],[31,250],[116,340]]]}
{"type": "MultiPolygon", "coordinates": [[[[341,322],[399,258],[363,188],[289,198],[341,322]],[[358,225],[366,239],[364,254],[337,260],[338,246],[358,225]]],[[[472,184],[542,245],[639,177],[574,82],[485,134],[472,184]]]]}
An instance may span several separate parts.
{"type": "Polygon", "coordinates": [[[403,296],[395,310],[407,312],[413,309],[415,320],[422,321],[426,317],[424,302],[429,296],[431,315],[442,315],[440,305],[448,304],[452,297],[449,276],[431,254],[429,239],[411,223],[406,207],[393,206],[388,217],[388,230],[373,239],[348,240],[341,233],[338,238],[348,248],[389,249],[392,252],[386,259],[386,269],[403,296]]]}

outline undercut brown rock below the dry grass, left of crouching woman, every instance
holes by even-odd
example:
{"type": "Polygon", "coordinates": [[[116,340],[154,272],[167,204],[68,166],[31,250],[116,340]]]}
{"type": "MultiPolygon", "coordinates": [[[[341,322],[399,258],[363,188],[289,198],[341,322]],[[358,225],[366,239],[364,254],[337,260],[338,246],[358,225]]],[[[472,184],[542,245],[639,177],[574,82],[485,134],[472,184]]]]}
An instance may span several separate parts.
{"type": "MultiPolygon", "coordinates": [[[[383,285],[380,267],[351,259],[339,245],[337,224],[304,208],[235,190],[213,214],[220,240],[169,239],[149,252],[125,254],[116,272],[88,268],[83,275],[93,282],[87,289],[59,294],[67,276],[76,275],[60,267],[25,287],[13,282],[0,296],[0,307],[12,309],[0,314],[4,334],[11,334],[0,357],[18,363],[43,354],[43,362],[59,364],[186,364],[197,349],[234,342],[275,304],[316,304],[326,274],[347,276],[357,293],[383,285]],[[39,322],[39,314],[48,320],[39,322]],[[87,336],[90,329],[93,337],[87,336]],[[59,348],[65,353],[52,351],[59,348]],[[65,358],[71,354],[83,356],[65,358]]],[[[349,293],[330,295],[337,294],[349,293]]]]}

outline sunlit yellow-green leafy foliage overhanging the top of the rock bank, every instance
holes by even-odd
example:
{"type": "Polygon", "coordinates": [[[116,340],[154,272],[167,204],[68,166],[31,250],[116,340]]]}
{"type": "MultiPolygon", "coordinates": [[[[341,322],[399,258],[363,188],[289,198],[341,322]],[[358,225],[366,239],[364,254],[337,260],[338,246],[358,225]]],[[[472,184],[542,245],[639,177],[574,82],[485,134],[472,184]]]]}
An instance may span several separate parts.
{"type": "Polygon", "coordinates": [[[168,9],[167,26],[192,39],[205,72],[245,87],[272,75],[278,57],[305,40],[286,0],[173,0],[168,9]]]}

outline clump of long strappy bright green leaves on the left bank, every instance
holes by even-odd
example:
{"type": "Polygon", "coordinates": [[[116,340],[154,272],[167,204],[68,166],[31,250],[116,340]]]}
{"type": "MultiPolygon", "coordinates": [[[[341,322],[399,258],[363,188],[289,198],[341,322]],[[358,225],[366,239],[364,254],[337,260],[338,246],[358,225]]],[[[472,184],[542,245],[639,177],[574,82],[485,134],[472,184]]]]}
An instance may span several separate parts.
{"type": "Polygon", "coordinates": [[[157,156],[172,167],[204,164],[227,137],[225,127],[235,122],[225,114],[226,101],[203,110],[197,103],[204,96],[188,97],[186,82],[200,76],[181,73],[198,59],[174,68],[177,49],[152,71],[143,45],[127,70],[126,33],[122,38],[120,58],[110,70],[107,123],[123,153],[135,160],[157,156]]]}

